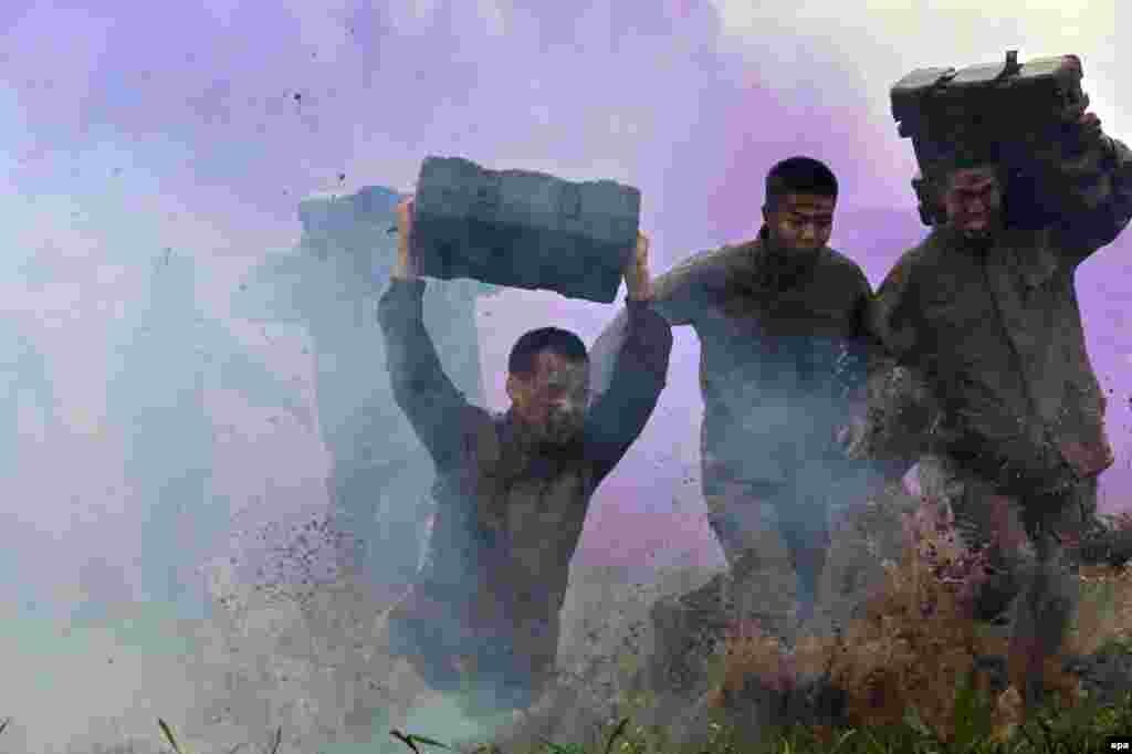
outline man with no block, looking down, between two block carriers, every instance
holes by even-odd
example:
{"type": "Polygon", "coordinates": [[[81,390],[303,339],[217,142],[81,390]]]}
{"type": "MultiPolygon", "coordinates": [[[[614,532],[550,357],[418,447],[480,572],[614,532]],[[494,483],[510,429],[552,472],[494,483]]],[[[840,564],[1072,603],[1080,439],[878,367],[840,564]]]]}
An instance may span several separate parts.
{"type": "Polygon", "coordinates": [[[780,162],[766,177],[758,237],[692,257],[657,280],[653,298],[669,324],[700,337],[710,523],[728,566],[741,560],[760,592],[754,617],[779,636],[790,634],[791,566],[796,617],[813,611],[844,464],[834,440],[863,382],[872,290],[825,246],[837,195],[821,162],[780,162]]]}

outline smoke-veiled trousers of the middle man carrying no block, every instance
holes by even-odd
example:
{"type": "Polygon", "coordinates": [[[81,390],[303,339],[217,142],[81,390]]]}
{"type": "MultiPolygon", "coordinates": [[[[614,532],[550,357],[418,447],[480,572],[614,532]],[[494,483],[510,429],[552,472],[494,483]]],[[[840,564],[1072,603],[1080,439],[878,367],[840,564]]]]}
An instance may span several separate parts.
{"type": "Polygon", "coordinates": [[[765,592],[763,623],[782,631],[791,591],[797,618],[812,615],[830,548],[827,498],[800,483],[720,480],[705,481],[704,497],[728,567],[736,571],[741,563],[739,569],[751,569],[765,592]]]}

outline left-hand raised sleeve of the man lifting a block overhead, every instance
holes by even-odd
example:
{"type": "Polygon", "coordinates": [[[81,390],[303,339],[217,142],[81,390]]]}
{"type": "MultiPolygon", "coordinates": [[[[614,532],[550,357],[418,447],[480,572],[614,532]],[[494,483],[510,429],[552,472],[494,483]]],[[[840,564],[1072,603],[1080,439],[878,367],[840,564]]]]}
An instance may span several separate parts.
{"type": "Polygon", "coordinates": [[[393,279],[377,305],[386,367],[397,405],[438,466],[460,457],[463,434],[453,426],[471,408],[444,374],[423,319],[424,281],[393,279]]]}

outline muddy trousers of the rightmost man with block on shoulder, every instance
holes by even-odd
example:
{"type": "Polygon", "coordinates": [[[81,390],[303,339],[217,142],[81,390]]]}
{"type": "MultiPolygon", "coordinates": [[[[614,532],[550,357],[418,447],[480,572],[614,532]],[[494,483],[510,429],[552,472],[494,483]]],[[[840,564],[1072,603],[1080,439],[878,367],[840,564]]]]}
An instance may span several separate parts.
{"type": "Polygon", "coordinates": [[[1067,539],[1091,521],[1097,480],[1056,494],[1005,495],[946,457],[921,461],[919,477],[925,496],[951,506],[964,543],[986,552],[975,617],[1010,622],[1011,674],[1027,702],[1039,703],[1044,665],[1062,650],[1080,600],[1067,539]]]}

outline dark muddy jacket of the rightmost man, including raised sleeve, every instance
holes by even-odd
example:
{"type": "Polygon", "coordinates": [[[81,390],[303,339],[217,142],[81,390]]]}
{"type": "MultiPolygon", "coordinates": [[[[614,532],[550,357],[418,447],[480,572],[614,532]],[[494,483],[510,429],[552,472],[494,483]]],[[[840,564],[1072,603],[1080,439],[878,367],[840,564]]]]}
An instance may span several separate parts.
{"type": "MultiPolygon", "coordinates": [[[[1047,165],[1060,190],[1056,221],[1007,228],[988,248],[934,229],[890,272],[871,315],[889,359],[871,382],[908,388],[871,386],[881,400],[871,406],[874,425],[877,415],[889,422],[872,431],[915,436],[917,452],[952,455],[1015,491],[1057,489],[1113,463],[1073,276],[1132,216],[1132,153],[1103,137],[1047,165]],[[893,365],[902,377],[885,376],[893,365]]],[[[914,447],[894,448],[892,436],[873,443],[881,454],[910,456],[914,447]]]]}

